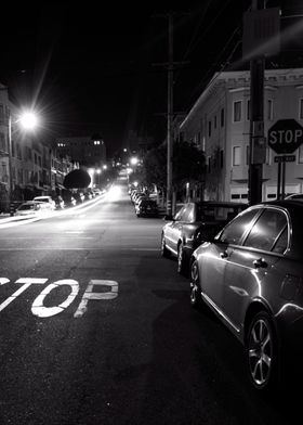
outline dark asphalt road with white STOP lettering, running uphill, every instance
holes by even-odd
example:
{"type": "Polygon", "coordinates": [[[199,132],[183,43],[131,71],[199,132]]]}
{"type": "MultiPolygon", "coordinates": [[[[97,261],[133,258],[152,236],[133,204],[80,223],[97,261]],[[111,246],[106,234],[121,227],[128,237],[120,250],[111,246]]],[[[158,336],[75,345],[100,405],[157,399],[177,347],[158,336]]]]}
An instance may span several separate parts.
{"type": "Polygon", "coordinates": [[[0,222],[0,424],[298,424],[300,390],[254,394],[239,343],[160,257],[163,221],[137,219],[119,183],[0,222]]]}

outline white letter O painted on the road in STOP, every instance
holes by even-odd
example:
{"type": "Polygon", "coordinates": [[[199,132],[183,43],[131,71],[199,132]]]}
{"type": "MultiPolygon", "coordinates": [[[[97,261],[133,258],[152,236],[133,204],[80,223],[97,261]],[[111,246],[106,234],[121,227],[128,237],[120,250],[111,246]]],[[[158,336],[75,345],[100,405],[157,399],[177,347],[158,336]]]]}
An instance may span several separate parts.
{"type": "Polygon", "coordinates": [[[32,314],[38,315],[38,318],[50,318],[51,315],[58,314],[74,301],[74,299],[78,295],[78,292],[79,292],[79,283],[71,279],[64,279],[51,283],[34,300],[31,306],[31,312],[32,314]],[[57,288],[58,286],[64,286],[64,285],[69,285],[71,288],[71,292],[66,298],[66,300],[55,307],[45,307],[43,305],[45,296],[49,295],[53,289],[57,288]]]}

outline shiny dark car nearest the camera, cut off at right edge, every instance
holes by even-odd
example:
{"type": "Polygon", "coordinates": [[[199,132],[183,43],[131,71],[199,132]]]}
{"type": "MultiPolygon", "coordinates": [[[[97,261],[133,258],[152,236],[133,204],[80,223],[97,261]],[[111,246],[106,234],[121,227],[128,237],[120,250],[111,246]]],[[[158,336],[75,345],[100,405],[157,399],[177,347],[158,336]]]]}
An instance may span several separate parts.
{"type": "Polygon", "coordinates": [[[242,343],[251,383],[269,394],[295,357],[302,371],[302,216],[301,201],[252,206],[190,259],[192,305],[208,305],[242,343]]]}

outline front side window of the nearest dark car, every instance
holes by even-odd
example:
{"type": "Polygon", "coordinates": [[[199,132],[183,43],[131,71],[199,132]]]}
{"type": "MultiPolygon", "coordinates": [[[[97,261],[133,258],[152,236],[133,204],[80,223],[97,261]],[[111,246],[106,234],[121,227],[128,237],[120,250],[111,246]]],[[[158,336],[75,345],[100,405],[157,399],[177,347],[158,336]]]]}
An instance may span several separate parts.
{"type": "Polygon", "coordinates": [[[260,209],[251,209],[242,212],[240,216],[235,218],[233,222],[226,226],[220,235],[220,242],[227,244],[239,244],[241,236],[249,229],[252,219],[256,216],[260,209]]]}

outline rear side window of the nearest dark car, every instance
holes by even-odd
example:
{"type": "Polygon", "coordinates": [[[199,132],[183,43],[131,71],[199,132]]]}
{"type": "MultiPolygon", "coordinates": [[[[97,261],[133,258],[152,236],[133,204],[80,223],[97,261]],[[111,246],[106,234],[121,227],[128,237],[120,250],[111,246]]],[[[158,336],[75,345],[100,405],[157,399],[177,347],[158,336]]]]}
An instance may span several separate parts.
{"type": "Polygon", "coordinates": [[[272,250],[276,239],[287,226],[287,218],[282,211],[266,208],[253,224],[243,245],[251,248],[272,250]]]}

